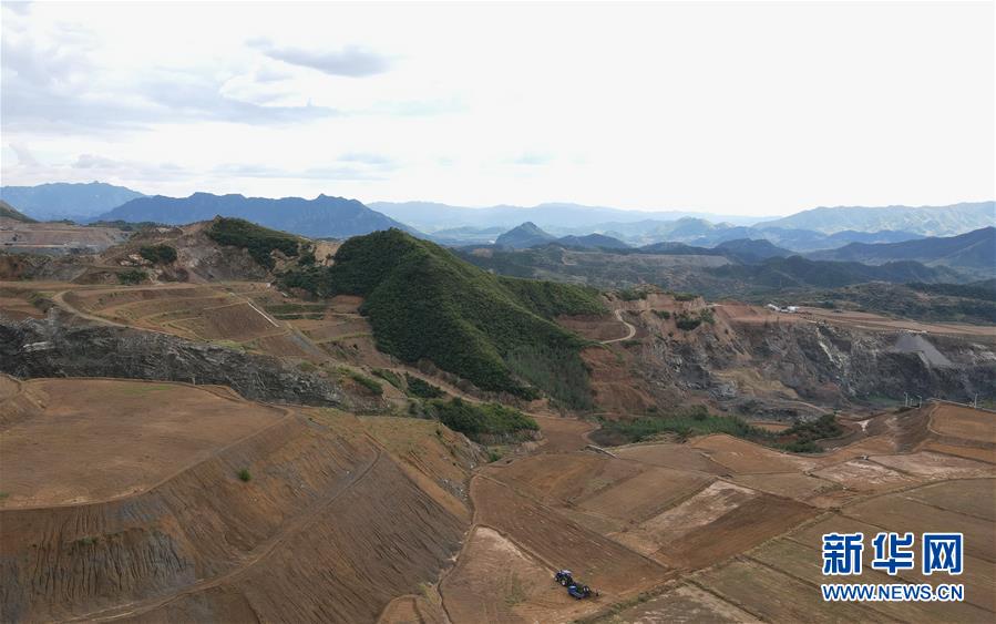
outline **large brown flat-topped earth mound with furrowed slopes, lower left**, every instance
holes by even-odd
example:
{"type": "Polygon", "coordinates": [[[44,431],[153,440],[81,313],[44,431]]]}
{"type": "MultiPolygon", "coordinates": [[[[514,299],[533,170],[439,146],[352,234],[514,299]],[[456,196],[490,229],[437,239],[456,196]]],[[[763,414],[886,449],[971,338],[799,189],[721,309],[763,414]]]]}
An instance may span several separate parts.
{"type": "Polygon", "coordinates": [[[351,416],[168,383],[0,389],[34,397],[0,437],[3,622],[372,622],[466,528],[351,416]]]}

